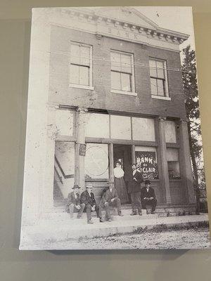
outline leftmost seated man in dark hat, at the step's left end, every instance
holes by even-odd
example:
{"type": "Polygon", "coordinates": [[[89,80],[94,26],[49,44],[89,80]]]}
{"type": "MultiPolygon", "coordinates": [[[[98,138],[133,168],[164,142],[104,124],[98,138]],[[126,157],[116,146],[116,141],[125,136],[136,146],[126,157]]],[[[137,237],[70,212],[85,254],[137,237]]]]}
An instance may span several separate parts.
{"type": "Polygon", "coordinates": [[[73,191],[68,194],[68,204],[66,206],[66,211],[70,213],[70,218],[73,218],[73,213],[78,212],[77,218],[82,217],[82,213],[85,208],[85,204],[81,204],[79,196],[79,186],[74,185],[73,191]]]}

